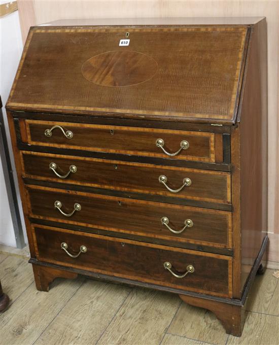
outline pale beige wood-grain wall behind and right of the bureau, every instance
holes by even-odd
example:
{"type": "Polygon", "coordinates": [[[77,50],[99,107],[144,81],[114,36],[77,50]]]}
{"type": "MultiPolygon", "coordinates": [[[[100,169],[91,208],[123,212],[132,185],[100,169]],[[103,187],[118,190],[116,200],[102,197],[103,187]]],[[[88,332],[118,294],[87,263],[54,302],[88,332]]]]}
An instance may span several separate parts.
{"type": "MultiPolygon", "coordinates": [[[[20,0],[19,0],[20,1],[20,0]]],[[[278,213],[278,18],[277,0],[226,1],[22,1],[33,3],[36,24],[57,19],[265,16],[268,31],[268,232],[279,233],[278,213]]],[[[30,16],[29,16],[30,17],[30,16]]],[[[23,30],[30,26],[22,20],[23,30]]],[[[253,154],[257,154],[254,152],[253,154]]],[[[279,256],[279,253],[277,253],[279,256]]],[[[272,255],[274,260],[274,254],[272,255]]],[[[279,261],[279,259],[277,260],[279,261]]]]}

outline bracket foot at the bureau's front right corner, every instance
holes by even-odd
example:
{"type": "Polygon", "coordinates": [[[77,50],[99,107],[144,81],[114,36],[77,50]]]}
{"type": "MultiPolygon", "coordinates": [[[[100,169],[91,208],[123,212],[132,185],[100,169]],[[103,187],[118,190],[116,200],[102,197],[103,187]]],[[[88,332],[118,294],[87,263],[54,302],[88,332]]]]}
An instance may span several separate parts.
{"type": "Polygon", "coordinates": [[[203,299],[199,297],[186,295],[179,296],[186,303],[208,309],[212,313],[214,313],[216,317],[221,321],[226,330],[226,333],[235,336],[241,336],[245,318],[245,310],[242,306],[203,299]]]}

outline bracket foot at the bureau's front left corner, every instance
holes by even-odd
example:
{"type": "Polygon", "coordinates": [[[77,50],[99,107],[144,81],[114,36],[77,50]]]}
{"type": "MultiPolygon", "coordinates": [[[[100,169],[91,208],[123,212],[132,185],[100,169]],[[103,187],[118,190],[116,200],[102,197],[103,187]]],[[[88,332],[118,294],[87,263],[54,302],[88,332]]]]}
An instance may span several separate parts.
{"type": "Polygon", "coordinates": [[[32,265],[34,278],[36,282],[37,290],[39,291],[49,291],[49,285],[56,278],[68,278],[75,279],[78,274],[75,272],[65,271],[63,269],[57,269],[46,266],[32,265]]]}

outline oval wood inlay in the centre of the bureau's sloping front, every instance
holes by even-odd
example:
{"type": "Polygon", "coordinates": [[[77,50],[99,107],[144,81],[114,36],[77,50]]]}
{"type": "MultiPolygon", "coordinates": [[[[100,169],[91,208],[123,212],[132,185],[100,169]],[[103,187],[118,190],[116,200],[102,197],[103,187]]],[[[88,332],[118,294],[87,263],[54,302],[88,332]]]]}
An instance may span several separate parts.
{"type": "Polygon", "coordinates": [[[105,52],[82,65],[84,78],[102,86],[131,86],[144,83],[158,71],[150,56],[133,51],[105,52]]]}

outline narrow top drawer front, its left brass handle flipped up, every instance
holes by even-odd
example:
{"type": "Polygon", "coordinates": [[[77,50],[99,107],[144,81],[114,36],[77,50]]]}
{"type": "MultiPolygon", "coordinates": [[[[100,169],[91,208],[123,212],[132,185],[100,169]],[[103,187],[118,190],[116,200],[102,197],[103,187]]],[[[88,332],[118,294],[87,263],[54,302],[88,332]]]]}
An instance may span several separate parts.
{"type": "Polygon", "coordinates": [[[218,141],[215,148],[215,134],[210,132],[38,120],[25,120],[25,124],[29,144],[68,149],[215,162],[215,149],[222,151],[223,145],[218,141]],[[45,131],[53,126],[60,126],[68,137],[58,127],[46,136],[45,131]],[[157,142],[159,139],[162,141],[157,142]],[[177,154],[169,156],[163,150],[177,154]]]}

